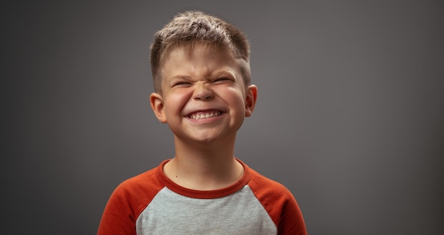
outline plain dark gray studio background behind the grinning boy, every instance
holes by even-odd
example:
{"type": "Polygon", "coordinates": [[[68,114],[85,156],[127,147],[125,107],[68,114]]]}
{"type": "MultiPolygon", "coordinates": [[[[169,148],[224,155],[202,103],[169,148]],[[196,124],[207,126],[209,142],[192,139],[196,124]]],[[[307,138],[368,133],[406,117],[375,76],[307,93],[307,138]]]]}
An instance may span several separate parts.
{"type": "Polygon", "coordinates": [[[95,234],[116,185],[173,156],[148,50],[190,9],[250,38],[236,156],[309,234],[443,234],[443,1],[1,4],[3,231],[95,234]]]}

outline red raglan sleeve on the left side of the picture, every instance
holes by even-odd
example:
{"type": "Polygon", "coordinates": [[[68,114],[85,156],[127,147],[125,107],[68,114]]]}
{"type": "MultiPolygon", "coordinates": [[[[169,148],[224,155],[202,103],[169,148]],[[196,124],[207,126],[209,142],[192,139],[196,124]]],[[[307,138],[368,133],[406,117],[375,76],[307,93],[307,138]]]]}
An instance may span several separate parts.
{"type": "Polygon", "coordinates": [[[106,204],[97,234],[135,234],[139,214],[162,188],[155,169],[118,185],[106,204]]]}

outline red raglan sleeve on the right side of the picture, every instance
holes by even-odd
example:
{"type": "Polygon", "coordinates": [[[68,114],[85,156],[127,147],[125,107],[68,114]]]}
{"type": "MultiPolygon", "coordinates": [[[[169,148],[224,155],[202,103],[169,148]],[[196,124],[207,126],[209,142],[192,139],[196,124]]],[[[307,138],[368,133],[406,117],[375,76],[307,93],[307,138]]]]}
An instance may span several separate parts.
{"type": "Polygon", "coordinates": [[[299,205],[284,185],[255,171],[248,185],[276,224],[277,234],[307,234],[299,205]]]}

